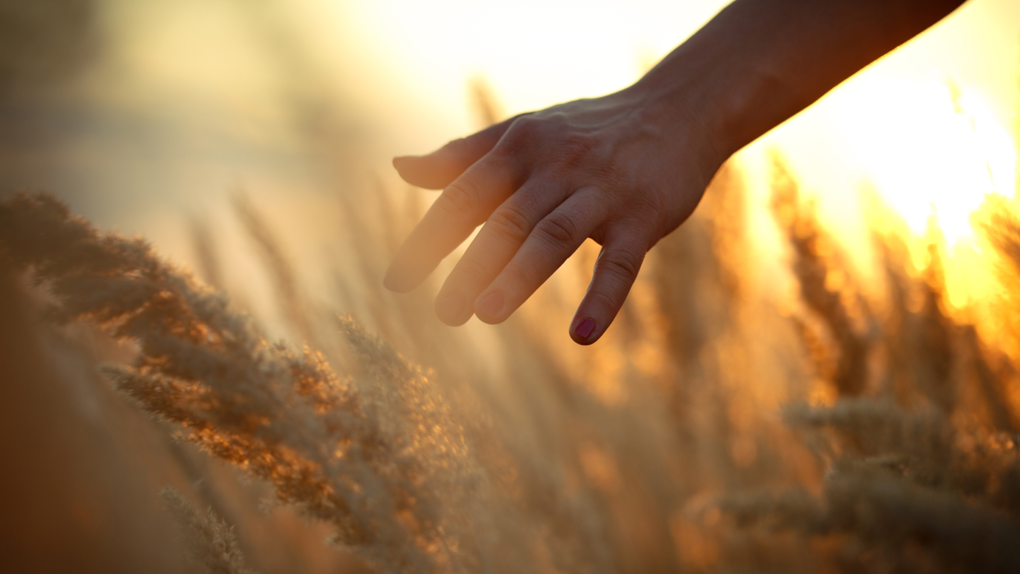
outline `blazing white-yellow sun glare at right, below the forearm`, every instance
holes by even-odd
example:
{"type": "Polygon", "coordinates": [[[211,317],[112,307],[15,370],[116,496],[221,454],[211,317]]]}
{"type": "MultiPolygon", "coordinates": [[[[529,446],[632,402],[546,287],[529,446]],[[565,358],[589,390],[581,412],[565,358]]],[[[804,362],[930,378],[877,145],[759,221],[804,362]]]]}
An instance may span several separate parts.
{"type": "Polygon", "coordinates": [[[953,244],[973,234],[970,212],[986,194],[1013,194],[1016,148],[980,94],[935,79],[854,88],[856,105],[837,116],[837,128],[913,232],[923,233],[934,214],[953,244]]]}

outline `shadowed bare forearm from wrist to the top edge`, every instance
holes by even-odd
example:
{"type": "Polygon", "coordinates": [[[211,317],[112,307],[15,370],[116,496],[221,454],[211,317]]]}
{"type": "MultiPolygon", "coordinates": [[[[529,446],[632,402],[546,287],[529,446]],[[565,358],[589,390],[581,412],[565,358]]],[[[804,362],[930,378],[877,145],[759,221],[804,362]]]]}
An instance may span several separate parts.
{"type": "Polygon", "coordinates": [[[736,0],[631,89],[701,125],[721,159],[962,0],[736,0]]]}

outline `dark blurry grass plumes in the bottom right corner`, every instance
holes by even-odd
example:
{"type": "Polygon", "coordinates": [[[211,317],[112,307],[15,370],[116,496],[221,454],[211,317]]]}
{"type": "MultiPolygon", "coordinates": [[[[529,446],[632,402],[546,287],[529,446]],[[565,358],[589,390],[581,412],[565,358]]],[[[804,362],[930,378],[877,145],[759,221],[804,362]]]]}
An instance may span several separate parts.
{"type": "Polygon", "coordinates": [[[1020,544],[1020,458],[1011,438],[963,432],[935,409],[908,412],[873,398],[785,415],[794,427],[822,433],[819,456],[831,463],[821,496],[726,496],[721,508],[737,524],[851,534],[892,571],[917,571],[922,559],[934,559],[937,572],[1020,568],[1010,549],[1020,544]]]}

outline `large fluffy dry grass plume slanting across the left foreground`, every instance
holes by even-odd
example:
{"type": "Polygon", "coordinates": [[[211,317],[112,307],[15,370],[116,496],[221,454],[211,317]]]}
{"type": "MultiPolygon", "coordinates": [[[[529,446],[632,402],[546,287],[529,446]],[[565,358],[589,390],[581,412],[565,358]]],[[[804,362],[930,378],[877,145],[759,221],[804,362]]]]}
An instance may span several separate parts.
{"type": "Polygon", "coordinates": [[[353,322],[341,328],[370,374],[363,390],[320,354],[266,341],[142,240],[100,234],[46,195],[0,202],[0,257],[50,287],[53,318],[138,344],[133,368],[105,368],[121,392],[333,524],[338,543],[384,572],[473,563],[439,499],[442,480],[468,472],[459,429],[425,376],[353,322]]]}

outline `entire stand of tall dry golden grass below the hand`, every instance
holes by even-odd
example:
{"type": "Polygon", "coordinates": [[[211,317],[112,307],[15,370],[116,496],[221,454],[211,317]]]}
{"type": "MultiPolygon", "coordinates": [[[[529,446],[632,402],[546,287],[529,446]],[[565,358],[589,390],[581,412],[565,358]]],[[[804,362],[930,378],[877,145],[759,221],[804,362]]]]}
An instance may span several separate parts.
{"type": "MultiPolygon", "coordinates": [[[[90,348],[53,378],[104,363],[106,380],[159,421],[138,428],[181,441],[126,450],[165,453],[142,466],[183,492],[166,504],[210,572],[1016,571],[1013,204],[989,200],[976,216],[1001,257],[1003,296],[985,301],[998,323],[970,323],[947,301],[934,228],[917,267],[908,243],[918,240],[876,206],[882,279],[866,285],[777,164],[772,207],[797,287],[779,305],[748,259],[756,238],[742,177],[735,165],[720,172],[593,348],[571,346],[560,328],[592,245],[484,331],[488,346],[440,326],[427,288],[384,291],[382,266],[420,213],[414,193],[338,197],[336,240],[352,257],[335,270],[335,292],[315,297],[273,221],[236,202],[291,341],[269,340],[257,319],[144,241],[17,194],[0,202],[0,256],[6,284],[22,287],[5,289],[19,312],[45,307],[50,323],[21,341],[45,358],[29,363],[27,350],[5,356],[5,370],[28,384],[30,365],[90,348]],[[38,343],[57,336],[63,346],[38,343]],[[260,498],[270,516],[253,511],[260,498]],[[288,522],[288,509],[327,526],[330,553],[364,565],[323,558],[334,555],[314,539],[321,526],[288,522]]],[[[199,268],[222,287],[223,238],[195,226],[199,268]]],[[[29,331],[27,319],[17,325],[29,331]]],[[[57,434],[21,441],[59,459],[57,434]]],[[[108,472],[132,468],[117,460],[108,472]]],[[[161,543],[168,556],[186,551],[161,543]]]]}

